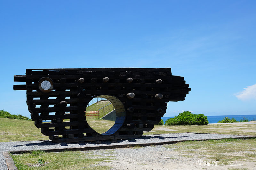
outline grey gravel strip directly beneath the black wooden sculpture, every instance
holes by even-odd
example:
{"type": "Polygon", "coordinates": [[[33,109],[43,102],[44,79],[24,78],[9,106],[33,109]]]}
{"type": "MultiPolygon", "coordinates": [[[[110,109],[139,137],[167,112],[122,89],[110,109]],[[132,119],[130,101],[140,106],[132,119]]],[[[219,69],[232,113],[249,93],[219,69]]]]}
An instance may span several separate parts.
{"type": "MultiPolygon", "coordinates": [[[[106,146],[106,145],[122,145],[122,144],[146,144],[146,143],[161,143],[169,141],[181,140],[198,140],[198,139],[222,139],[222,138],[236,138],[248,137],[241,135],[222,135],[222,134],[209,134],[209,133],[172,133],[161,135],[144,135],[136,139],[118,140],[117,143],[110,141],[102,141],[102,144],[92,143],[54,143],[50,140],[45,141],[23,141],[23,142],[0,142],[0,169],[8,170],[3,151],[20,151],[20,150],[47,150],[47,149],[61,149],[61,148],[82,148],[93,146],[106,146]]],[[[145,147],[147,149],[149,147],[145,147]]],[[[152,153],[153,154],[153,153],[152,153]]]]}

